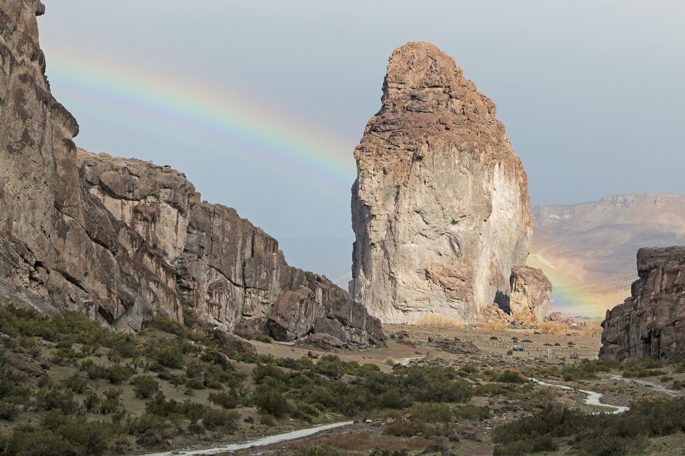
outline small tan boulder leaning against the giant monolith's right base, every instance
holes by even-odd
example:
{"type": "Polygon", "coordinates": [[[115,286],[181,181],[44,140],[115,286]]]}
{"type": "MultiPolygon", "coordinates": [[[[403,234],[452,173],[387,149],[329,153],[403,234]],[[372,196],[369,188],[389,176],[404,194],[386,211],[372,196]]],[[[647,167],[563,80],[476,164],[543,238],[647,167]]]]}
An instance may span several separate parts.
{"type": "Polygon", "coordinates": [[[528,266],[514,266],[509,278],[509,314],[515,322],[530,324],[543,322],[549,309],[552,283],[542,270],[528,266]]]}

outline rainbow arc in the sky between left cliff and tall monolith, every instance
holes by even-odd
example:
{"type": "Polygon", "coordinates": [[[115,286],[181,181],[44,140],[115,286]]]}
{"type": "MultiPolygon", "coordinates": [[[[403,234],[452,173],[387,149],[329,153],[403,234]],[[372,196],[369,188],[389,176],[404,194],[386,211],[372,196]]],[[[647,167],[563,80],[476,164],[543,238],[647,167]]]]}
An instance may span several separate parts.
{"type": "Polygon", "coordinates": [[[198,138],[198,144],[212,144],[240,162],[349,195],[356,177],[355,144],[325,126],[260,105],[225,84],[200,84],[162,68],[137,63],[132,67],[132,62],[112,56],[91,59],[90,55],[99,55],[95,51],[48,51],[48,77],[79,102],[105,101],[119,115],[198,138]]]}

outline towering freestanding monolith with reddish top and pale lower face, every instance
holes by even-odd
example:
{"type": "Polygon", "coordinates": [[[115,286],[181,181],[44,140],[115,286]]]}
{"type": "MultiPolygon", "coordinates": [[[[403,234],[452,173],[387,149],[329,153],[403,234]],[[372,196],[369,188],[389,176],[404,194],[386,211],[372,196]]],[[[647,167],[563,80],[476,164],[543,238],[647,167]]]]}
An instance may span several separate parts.
{"type": "Polygon", "coordinates": [[[384,322],[475,322],[506,301],[532,235],[527,179],[495,103],[434,45],[390,57],[355,149],[350,292],[384,322]]]}

